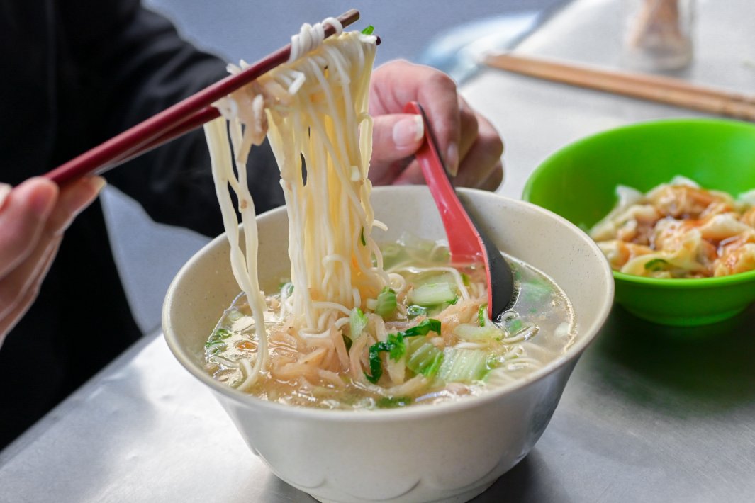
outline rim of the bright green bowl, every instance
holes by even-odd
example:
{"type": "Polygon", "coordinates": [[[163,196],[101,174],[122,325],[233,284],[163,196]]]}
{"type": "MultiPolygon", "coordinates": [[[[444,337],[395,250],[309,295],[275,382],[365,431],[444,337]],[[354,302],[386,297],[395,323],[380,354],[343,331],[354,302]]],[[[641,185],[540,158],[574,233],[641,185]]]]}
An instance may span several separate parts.
{"type": "MultiPolygon", "coordinates": [[[[530,201],[532,196],[533,186],[535,186],[535,179],[543,176],[547,170],[553,169],[550,164],[559,160],[560,158],[570,155],[573,151],[581,149],[589,143],[602,140],[604,137],[614,136],[615,134],[621,134],[627,130],[643,130],[652,129],[654,127],[674,127],[674,126],[720,126],[731,127],[739,130],[750,130],[755,133],[755,124],[750,124],[745,121],[737,121],[725,118],[664,118],[664,119],[651,119],[648,121],[639,121],[633,124],[624,124],[623,126],[612,127],[607,130],[602,130],[597,133],[584,136],[571,143],[567,143],[565,146],[560,147],[548,155],[535,170],[530,173],[525,186],[522,189],[522,200],[530,201]]],[[[704,290],[707,288],[717,288],[723,286],[733,286],[738,284],[749,283],[755,281],[755,270],[738,272],[733,275],[715,276],[710,278],[648,278],[646,276],[630,275],[621,271],[612,271],[612,275],[617,281],[624,281],[627,283],[636,283],[643,285],[652,285],[660,288],[667,289],[680,289],[689,288],[691,290],[704,290]]]]}

